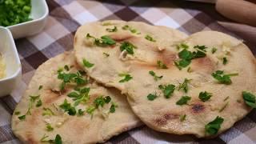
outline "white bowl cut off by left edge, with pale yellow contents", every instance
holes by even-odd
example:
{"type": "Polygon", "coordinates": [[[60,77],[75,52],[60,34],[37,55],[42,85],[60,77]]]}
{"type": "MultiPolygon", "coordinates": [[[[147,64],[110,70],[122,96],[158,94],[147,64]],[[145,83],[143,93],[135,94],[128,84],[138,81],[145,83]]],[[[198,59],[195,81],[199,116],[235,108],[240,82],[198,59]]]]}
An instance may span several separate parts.
{"type": "Polygon", "coordinates": [[[6,77],[0,79],[0,97],[10,94],[22,78],[22,65],[14,38],[5,27],[0,26],[0,53],[6,64],[6,77]]]}

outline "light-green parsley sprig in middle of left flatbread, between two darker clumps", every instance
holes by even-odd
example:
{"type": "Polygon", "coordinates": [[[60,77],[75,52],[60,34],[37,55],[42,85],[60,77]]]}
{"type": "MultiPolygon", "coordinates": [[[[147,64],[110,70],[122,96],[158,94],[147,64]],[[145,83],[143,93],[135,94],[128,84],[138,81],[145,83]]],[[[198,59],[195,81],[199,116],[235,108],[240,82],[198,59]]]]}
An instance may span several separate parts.
{"type": "Polygon", "coordinates": [[[90,99],[90,87],[83,87],[75,89],[74,91],[67,94],[68,97],[73,98],[74,106],[78,106],[79,103],[86,103],[90,99]]]}

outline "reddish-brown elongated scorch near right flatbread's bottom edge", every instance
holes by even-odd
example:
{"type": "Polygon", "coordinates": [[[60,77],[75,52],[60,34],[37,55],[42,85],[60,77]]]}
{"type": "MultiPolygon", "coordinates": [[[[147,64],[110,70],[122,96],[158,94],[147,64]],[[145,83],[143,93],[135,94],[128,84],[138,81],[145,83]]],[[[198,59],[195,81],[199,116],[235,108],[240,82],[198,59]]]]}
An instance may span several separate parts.
{"type": "Polygon", "coordinates": [[[163,126],[168,123],[168,121],[179,118],[178,114],[172,114],[172,113],[166,113],[160,116],[159,118],[156,118],[154,120],[154,123],[158,126],[163,126]]]}

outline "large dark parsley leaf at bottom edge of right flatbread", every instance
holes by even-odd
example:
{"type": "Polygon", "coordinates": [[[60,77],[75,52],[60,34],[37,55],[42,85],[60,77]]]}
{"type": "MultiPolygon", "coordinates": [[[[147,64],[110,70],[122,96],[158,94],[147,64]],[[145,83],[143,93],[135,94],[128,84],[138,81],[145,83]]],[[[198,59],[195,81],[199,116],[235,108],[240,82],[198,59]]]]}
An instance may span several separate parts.
{"type": "Polygon", "coordinates": [[[221,128],[222,123],[224,122],[224,118],[217,116],[214,121],[209,122],[206,126],[206,133],[213,135],[217,134],[218,130],[221,128]]]}

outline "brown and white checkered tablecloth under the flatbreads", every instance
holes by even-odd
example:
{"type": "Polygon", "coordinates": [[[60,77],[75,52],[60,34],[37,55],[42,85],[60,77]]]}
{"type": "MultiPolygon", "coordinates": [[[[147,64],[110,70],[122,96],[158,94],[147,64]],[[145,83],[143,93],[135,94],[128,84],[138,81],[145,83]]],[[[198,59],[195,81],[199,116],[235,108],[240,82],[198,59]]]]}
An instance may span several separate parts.
{"type": "MultiPolygon", "coordinates": [[[[34,71],[48,58],[72,50],[74,33],[78,26],[86,22],[122,19],[170,26],[186,34],[201,30],[218,30],[230,34],[207,14],[190,9],[190,6],[178,0],[47,0],[47,3],[50,15],[45,29],[32,37],[15,40],[22,62],[22,82],[12,94],[0,98],[0,142],[3,143],[20,143],[12,134],[10,119],[34,71]]],[[[255,122],[256,110],[253,110],[230,130],[214,139],[163,134],[141,126],[111,138],[107,143],[256,143],[255,122]]]]}

